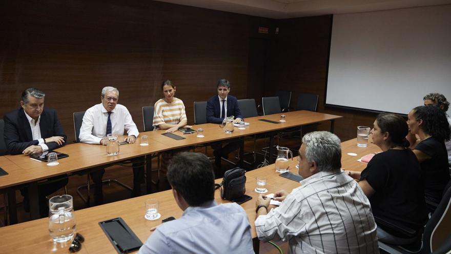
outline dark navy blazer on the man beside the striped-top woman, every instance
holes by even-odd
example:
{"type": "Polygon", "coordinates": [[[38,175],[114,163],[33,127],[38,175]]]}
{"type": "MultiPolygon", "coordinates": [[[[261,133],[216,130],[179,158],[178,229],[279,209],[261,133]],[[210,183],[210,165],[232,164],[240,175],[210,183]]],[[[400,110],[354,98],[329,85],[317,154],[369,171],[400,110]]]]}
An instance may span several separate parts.
{"type": "MultiPolygon", "coordinates": [[[[219,97],[215,95],[207,101],[207,123],[220,124],[224,118],[219,118],[221,115],[221,104],[219,104],[219,97]]],[[[238,107],[236,97],[227,95],[227,116],[235,116],[235,118],[243,119],[241,111],[238,107]]]]}

